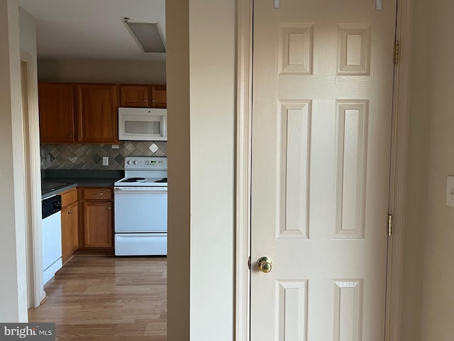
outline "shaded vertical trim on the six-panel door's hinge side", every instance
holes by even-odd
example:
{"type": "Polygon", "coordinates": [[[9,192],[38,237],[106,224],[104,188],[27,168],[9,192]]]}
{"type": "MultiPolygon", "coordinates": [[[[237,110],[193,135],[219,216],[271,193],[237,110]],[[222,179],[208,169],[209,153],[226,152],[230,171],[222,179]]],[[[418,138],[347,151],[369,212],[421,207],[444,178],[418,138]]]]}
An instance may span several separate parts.
{"type": "Polygon", "coordinates": [[[402,268],[405,229],[406,160],[409,136],[411,82],[411,13],[413,0],[398,0],[397,32],[399,63],[394,77],[394,113],[392,132],[392,171],[389,210],[393,215],[393,232],[389,240],[387,341],[400,340],[402,307],[402,268]]]}

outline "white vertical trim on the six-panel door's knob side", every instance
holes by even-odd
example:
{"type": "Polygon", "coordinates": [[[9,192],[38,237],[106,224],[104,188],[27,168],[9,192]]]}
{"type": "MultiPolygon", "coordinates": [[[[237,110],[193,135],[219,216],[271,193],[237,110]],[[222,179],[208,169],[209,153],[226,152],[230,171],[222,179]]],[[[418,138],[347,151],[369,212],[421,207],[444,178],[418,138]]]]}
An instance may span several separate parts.
{"type": "Polygon", "coordinates": [[[238,0],[236,117],[236,308],[235,340],[249,340],[250,174],[252,152],[253,0],[238,0]]]}

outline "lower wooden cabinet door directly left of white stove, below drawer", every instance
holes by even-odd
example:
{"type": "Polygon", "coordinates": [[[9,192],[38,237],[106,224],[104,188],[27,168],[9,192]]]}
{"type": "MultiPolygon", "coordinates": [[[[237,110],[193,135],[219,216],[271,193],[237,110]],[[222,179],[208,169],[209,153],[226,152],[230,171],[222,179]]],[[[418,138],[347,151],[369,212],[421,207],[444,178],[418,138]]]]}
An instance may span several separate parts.
{"type": "Polygon", "coordinates": [[[84,202],[85,247],[112,247],[112,202],[84,202]]]}

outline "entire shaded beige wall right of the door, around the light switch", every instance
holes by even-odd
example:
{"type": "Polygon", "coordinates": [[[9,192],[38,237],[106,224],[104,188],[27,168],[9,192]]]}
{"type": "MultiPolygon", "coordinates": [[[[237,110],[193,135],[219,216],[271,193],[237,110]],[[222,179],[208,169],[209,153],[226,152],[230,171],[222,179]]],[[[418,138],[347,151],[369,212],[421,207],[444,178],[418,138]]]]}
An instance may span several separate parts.
{"type": "Polygon", "coordinates": [[[445,205],[454,175],[454,2],[414,0],[403,341],[454,335],[454,208],[445,205]]]}

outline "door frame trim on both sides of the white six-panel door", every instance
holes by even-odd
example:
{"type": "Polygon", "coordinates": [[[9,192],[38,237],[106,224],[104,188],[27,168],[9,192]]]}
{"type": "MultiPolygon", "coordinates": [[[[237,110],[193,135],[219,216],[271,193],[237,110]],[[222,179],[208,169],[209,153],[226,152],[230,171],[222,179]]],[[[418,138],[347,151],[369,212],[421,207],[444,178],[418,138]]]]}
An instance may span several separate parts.
{"type": "MultiPolygon", "coordinates": [[[[269,6],[273,6],[272,1],[268,2],[269,6]]],[[[388,239],[386,341],[400,340],[412,6],[413,0],[397,0],[396,40],[400,41],[400,60],[394,67],[389,188],[389,213],[393,215],[394,226],[392,237],[388,239]]],[[[251,263],[253,0],[237,0],[237,10],[235,340],[248,341],[250,340],[250,270],[248,262],[251,263]]],[[[392,57],[390,56],[390,58],[392,57]]]]}

